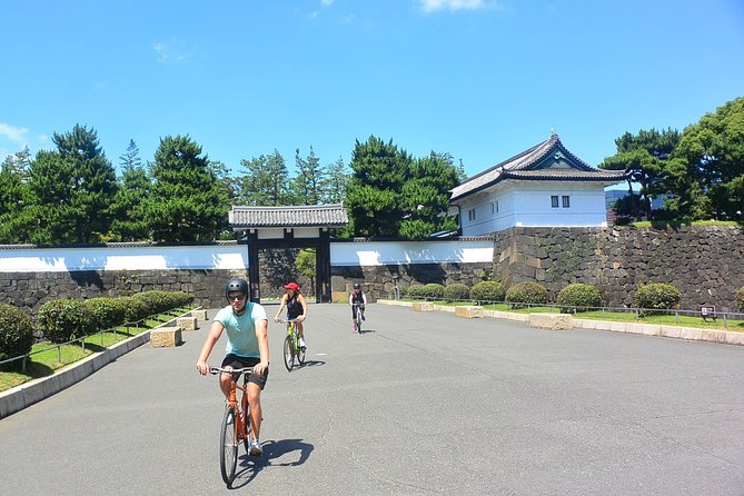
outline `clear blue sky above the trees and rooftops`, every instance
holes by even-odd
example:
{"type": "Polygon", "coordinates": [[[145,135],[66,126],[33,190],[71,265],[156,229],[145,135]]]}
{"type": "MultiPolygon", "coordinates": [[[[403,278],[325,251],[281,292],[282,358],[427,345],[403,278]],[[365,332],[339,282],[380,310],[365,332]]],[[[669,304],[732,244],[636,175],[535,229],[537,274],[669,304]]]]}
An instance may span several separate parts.
{"type": "Polygon", "coordinates": [[[742,0],[0,0],[0,157],[96,129],[115,163],[189,135],[215,160],[348,165],[370,135],[475,175],[554,128],[625,131],[744,96],[742,0]]]}

